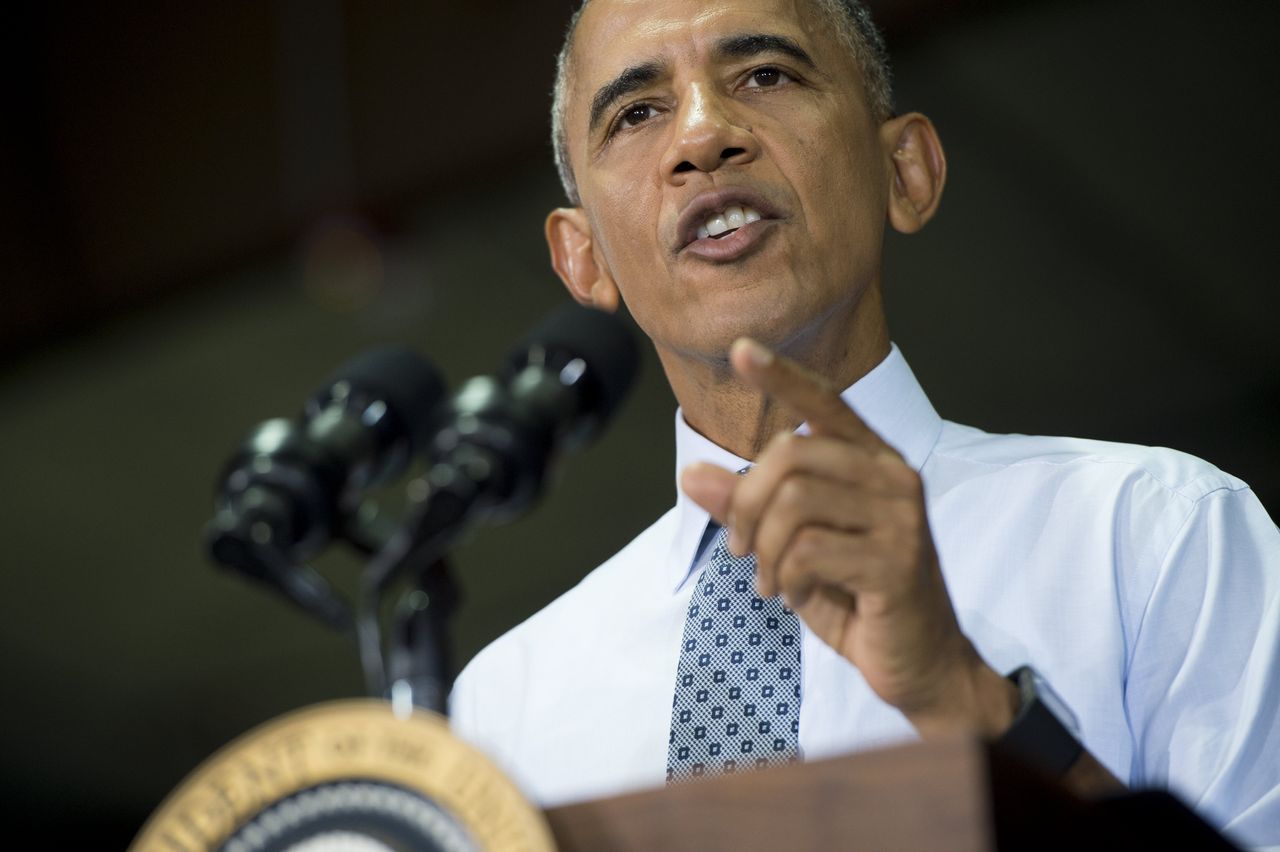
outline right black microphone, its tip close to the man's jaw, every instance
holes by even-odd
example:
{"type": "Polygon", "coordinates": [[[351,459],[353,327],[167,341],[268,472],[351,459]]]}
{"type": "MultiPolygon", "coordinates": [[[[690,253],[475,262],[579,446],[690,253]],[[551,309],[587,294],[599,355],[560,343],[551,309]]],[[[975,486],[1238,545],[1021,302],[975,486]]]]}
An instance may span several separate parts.
{"type": "Polygon", "coordinates": [[[411,494],[415,521],[379,560],[374,585],[388,582],[411,550],[429,559],[474,522],[525,512],[556,455],[602,431],[637,367],[626,322],[570,303],[526,335],[497,376],[463,384],[439,409],[425,487],[411,494]]]}

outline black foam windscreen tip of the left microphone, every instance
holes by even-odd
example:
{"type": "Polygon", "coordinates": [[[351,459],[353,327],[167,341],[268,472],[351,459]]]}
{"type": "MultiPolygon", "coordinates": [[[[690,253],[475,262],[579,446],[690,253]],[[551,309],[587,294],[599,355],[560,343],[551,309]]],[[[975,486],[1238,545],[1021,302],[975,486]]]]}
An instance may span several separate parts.
{"type": "Polygon", "coordinates": [[[430,361],[407,347],[380,347],[364,352],[342,365],[314,400],[324,404],[338,383],[372,394],[408,430],[413,446],[430,440],[433,414],[444,398],[445,385],[430,361]]]}

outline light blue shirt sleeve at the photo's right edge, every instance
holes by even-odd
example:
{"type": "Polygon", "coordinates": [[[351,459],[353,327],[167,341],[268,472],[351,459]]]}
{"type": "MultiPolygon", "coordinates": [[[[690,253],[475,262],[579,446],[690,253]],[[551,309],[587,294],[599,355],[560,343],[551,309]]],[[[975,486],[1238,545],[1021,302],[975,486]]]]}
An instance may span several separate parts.
{"type": "Polygon", "coordinates": [[[1133,783],[1280,849],[1280,530],[1252,490],[1194,500],[1129,658],[1133,783]]]}

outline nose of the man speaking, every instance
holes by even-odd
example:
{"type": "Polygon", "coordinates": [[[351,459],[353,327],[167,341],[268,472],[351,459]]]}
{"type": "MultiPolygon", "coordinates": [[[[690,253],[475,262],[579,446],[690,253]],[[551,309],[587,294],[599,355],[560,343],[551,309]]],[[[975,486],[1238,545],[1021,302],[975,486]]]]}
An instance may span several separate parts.
{"type": "Polygon", "coordinates": [[[675,136],[662,160],[666,180],[684,184],[691,174],[750,162],[759,155],[759,142],[732,107],[732,102],[709,87],[689,86],[676,111],[675,136]]]}

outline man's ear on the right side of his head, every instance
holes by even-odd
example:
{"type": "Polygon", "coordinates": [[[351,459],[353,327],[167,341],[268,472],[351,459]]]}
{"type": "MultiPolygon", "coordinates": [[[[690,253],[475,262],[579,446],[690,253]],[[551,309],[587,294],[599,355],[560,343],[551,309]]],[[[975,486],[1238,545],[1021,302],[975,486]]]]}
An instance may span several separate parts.
{"type": "Polygon", "coordinates": [[[947,157],[933,122],[908,113],[881,127],[881,145],[890,159],[888,220],[904,234],[924,228],[942,201],[947,157]]]}

